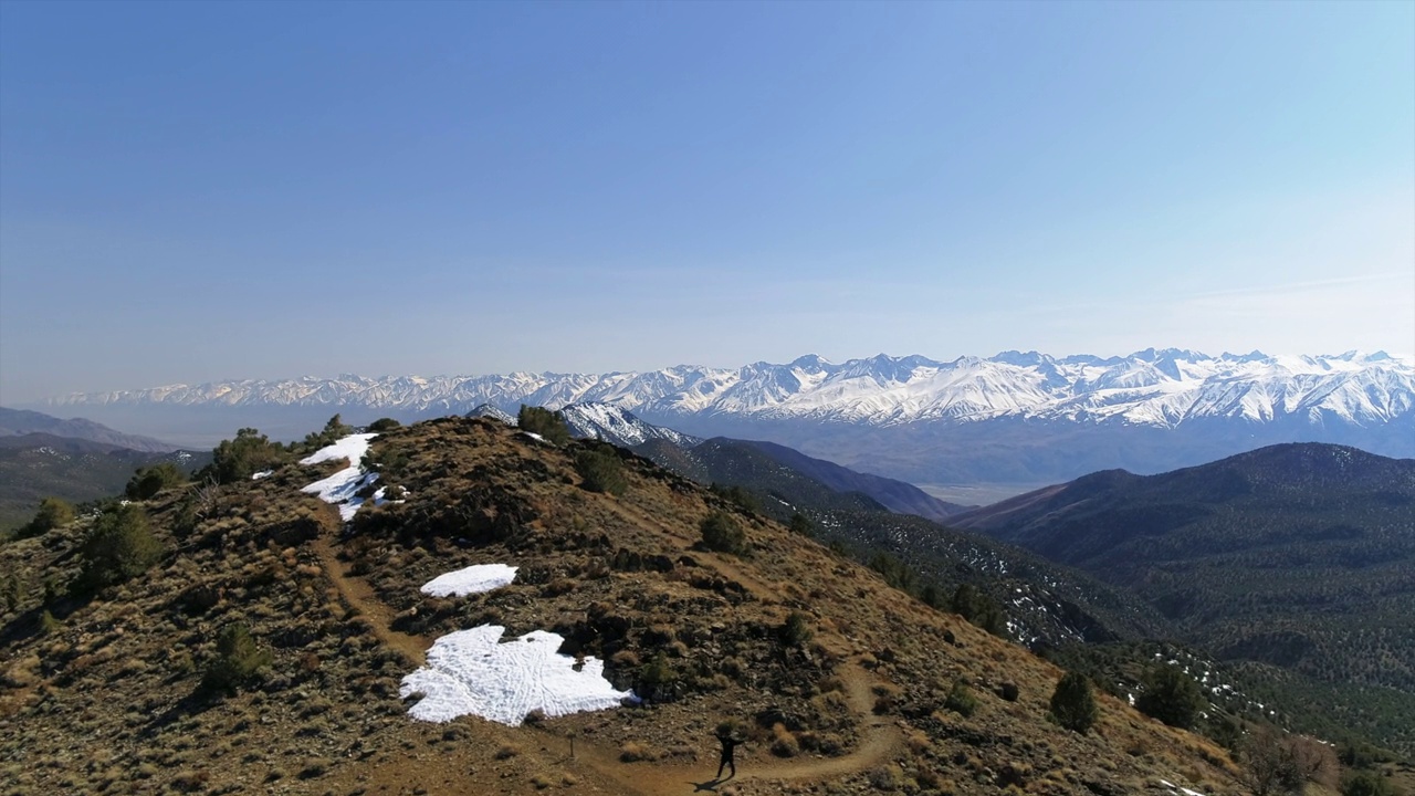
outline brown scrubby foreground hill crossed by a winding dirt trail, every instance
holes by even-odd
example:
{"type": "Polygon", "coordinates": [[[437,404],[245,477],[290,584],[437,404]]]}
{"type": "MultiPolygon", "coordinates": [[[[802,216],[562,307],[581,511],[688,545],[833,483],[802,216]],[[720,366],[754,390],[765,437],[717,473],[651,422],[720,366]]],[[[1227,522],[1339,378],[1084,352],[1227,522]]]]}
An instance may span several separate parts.
{"type": "Polygon", "coordinates": [[[20,584],[0,615],[6,790],[1241,792],[1225,752],[1122,701],[1099,697],[1085,735],[1049,724],[1051,664],[644,459],[614,453],[613,496],[579,474],[599,443],[560,449],[494,421],[375,436],[376,482],[335,460],[358,456],[355,442],[219,490],[160,493],[142,504],[156,562],[92,593],[71,589],[92,520],[0,547],[20,584]],[[342,507],[342,527],[306,487],[381,504],[342,507]],[[740,554],[702,548],[715,511],[744,530],[740,554]],[[492,564],[516,568],[509,585],[420,592],[492,564]],[[449,660],[446,635],[492,625],[521,640],[485,654],[559,643],[574,657],[543,649],[545,666],[603,666],[641,701],[519,725],[412,718],[447,693],[405,678],[449,660]],[[222,642],[218,656],[233,626],[255,646],[222,642]],[[201,688],[262,649],[269,664],[231,695],[201,688]],[[719,783],[723,720],[747,742],[740,775],[719,783]]]}

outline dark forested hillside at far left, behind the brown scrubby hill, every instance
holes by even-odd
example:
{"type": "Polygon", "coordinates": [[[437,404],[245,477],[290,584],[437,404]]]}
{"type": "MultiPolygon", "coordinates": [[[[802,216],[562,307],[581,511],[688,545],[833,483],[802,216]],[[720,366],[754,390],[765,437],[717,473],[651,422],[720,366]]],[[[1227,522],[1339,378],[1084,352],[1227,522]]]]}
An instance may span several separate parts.
{"type": "Polygon", "coordinates": [[[209,453],[153,453],[50,433],[0,436],[0,531],[27,523],[45,497],[98,500],[122,493],[137,467],[173,462],[190,470],[209,459],[209,453]]]}

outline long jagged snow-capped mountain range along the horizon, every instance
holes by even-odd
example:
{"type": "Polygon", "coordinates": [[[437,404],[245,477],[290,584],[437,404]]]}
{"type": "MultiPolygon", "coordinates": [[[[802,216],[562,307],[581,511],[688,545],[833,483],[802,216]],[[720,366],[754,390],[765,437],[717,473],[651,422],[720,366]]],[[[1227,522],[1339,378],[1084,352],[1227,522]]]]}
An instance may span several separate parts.
{"type": "Polygon", "coordinates": [[[658,422],[733,416],[899,426],[999,418],[1176,428],[1200,418],[1254,423],[1380,426],[1415,408],[1415,361],[1384,353],[1211,357],[1145,350],[1128,357],[1063,358],[1005,351],[941,363],[884,354],[833,364],[807,356],[740,368],[678,365],[648,373],[480,377],[341,375],[226,381],[72,394],[51,408],[222,405],[366,408],[427,416],[490,404],[560,408],[608,404],[658,422]]]}

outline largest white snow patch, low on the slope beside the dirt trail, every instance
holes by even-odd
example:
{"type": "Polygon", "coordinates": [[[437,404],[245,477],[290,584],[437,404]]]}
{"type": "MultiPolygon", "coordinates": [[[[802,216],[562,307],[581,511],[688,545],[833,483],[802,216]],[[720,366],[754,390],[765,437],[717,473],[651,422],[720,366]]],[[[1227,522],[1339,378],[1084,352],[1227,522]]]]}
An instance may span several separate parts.
{"type": "Polygon", "coordinates": [[[518,727],[539,710],[548,717],[620,707],[637,701],[604,678],[604,661],[576,660],[556,650],[559,635],[535,630],[501,643],[505,627],[483,625],[449,633],[427,650],[427,666],[403,677],[399,695],[422,694],[408,714],[423,721],[451,721],[475,714],[518,727]]]}

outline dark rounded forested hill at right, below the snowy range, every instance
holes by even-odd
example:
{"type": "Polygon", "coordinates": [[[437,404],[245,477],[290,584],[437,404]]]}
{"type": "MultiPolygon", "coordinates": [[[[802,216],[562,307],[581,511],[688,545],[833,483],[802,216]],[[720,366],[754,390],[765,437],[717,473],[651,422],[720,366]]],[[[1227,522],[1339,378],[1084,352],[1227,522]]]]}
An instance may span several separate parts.
{"type": "MultiPolygon", "coordinates": [[[[1221,659],[1408,705],[1387,742],[1415,748],[1415,460],[1281,445],[1094,473],[951,521],[1133,589],[1221,659]]],[[[1360,712],[1336,711],[1353,727],[1360,712]]]]}

